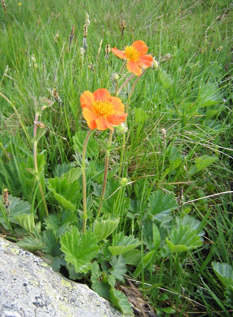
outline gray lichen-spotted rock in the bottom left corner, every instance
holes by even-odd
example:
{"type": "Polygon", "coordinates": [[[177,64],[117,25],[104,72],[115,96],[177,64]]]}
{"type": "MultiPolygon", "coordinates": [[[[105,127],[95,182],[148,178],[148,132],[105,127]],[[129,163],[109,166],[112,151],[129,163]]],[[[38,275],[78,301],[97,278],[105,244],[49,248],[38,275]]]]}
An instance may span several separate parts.
{"type": "Polygon", "coordinates": [[[86,285],[64,278],[34,254],[0,238],[1,317],[122,317],[86,285]]]}

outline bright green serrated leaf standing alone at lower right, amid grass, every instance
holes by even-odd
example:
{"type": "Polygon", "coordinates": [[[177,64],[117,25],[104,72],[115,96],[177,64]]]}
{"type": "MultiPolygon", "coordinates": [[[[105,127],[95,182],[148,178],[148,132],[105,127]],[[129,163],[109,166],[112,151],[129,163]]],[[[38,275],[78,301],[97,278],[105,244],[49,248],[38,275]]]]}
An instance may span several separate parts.
{"type": "Polygon", "coordinates": [[[180,225],[172,228],[169,239],[166,237],[166,243],[171,252],[183,252],[201,246],[202,240],[196,235],[196,230],[180,225]]]}

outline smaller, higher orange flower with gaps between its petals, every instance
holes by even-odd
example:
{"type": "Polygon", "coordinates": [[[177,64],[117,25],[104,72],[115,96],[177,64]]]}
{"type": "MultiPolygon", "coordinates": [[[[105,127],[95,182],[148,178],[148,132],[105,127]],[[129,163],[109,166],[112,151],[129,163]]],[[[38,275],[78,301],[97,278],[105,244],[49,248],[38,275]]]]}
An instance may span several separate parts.
{"type": "Polygon", "coordinates": [[[125,46],[123,51],[120,51],[116,47],[112,49],[112,52],[122,59],[126,59],[127,69],[135,75],[142,73],[142,68],[148,68],[153,62],[151,55],[145,55],[148,52],[148,47],[143,41],[135,41],[130,46],[125,46]]]}

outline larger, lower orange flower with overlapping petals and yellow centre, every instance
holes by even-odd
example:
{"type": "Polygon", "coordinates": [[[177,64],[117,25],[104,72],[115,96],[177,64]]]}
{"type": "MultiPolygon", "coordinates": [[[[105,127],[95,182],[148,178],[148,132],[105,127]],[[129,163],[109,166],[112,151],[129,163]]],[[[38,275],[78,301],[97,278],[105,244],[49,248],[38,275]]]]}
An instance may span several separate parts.
{"type": "Polygon", "coordinates": [[[94,93],[86,90],[80,97],[83,117],[90,129],[106,130],[124,122],[127,114],[120,98],[112,97],[105,88],[97,89],[94,93]]]}

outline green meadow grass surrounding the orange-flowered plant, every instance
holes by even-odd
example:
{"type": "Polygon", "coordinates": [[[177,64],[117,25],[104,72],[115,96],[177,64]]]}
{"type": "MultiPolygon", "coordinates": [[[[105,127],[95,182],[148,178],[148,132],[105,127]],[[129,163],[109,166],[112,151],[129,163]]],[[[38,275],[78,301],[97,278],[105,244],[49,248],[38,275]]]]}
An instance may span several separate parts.
{"type": "MultiPolygon", "coordinates": [[[[69,171],[70,167],[64,166],[74,161],[77,141],[82,145],[82,131],[88,131],[80,107],[81,94],[85,90],[111,89],[111,74],[122,66],[122,60],[110,54],[107,68],[105,45],[123,49],[135,40],[143,40],[157,60],[166,53],[174,55],[157,71],[146,72],[136,85],[130,100],[122,172],[122,177],[133,183],[121,187],[104,203],[103,210],[119,217],[110,240],[120,231],[126,236],[135,235],[141,242],[137,249],[144,261],[153,249],[152,236],[151,241],[146,236],[147,230],[150,232],[150,195],[162,190],[178,196],[182,187],[185,204],[181,210],[172,211],[163,229],[155,221],[162,242],[159,250],[136,278],[137,265],[128,265],[127,275],[139,281],[139,288],[158,309],[159,316],[170,315],[162,311],[164,307],[173,307],[175,316],[231,316],[232,307],[223,302],[225,287],[211,262],[233,265],[232,193],[189,201],[232,191],[232,3],[102,0],[99,8],[93,1],[5,3],[8,16],[0,8],[0,93],[10,103],[0,96],[1,188],[7,187],[12,196],[30,205],[35,199],[32,210],[39,205],[37,213],[43,213],[34,177],[25,162],[32,155],[36,111],[44,104],[42,98],[48,98],[48,89],[56,88],[62,103],[59,106],[54,102],[40,113],[39,120],[48,131],[39,140],[37,153],[42,153],[45,160],[40,180],[46,188],[49,212],[61,217],[63,209],[50,193],[48,179],[58,176],[58,164],[64,172],[69,171]],[[90,27],[82,62],[86,12],[90,27]],[[123,39],[121,19],[126,25],[123,39]],[[75,37],[69,49],[72,24],[75,37]],[[54,40],[57,32],[59,36],[54,40]],[[33,67],[32,55],[37,68],[33,67]],[[27,168],[23,170],[23,166],[27,168]],[[198,230],[205,232],[203,244],[171,254],[163,249],[163,243],[175,225],[175,217],[183,217],[182,211],[201,222],[198,230]]],[[[126,104],[126,100],[123,102],[126,104]]],[[[87,195],[93,191],[92,183],[103,179],[105,152],[95,140],[107,139],[109,132],[94,131],[93,135],[94,143],[88,150],[91,168],[87,172],[87,195]]],[[[114,133],[113,139],[116,149],[110,153],[113,178],[107,186],[107,197],[119,187],[116,173],[122,136],[114,133]]],[[[94,215],[97,207],[96,201],[94,215]]],[[[82,222],[77,212],[79,228],[82,222]]],[[[44,230],[43,217],[40,220],[44,230]]],[[[90,228],[93,221],[88,224],[90,228]]],[[[17,239],[27,233],[16,223],[12,226],[17,239]]],[[[11,236],[9,227],[2,223],[1,228],[3,234],[11,236]]],[[[105,256],[107,259],[109,255],[105,256]]],[[[86,282],[90,284],[88,277],[86,282]]]]}

